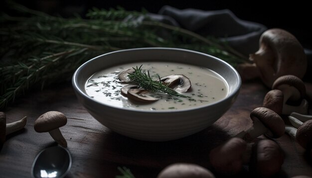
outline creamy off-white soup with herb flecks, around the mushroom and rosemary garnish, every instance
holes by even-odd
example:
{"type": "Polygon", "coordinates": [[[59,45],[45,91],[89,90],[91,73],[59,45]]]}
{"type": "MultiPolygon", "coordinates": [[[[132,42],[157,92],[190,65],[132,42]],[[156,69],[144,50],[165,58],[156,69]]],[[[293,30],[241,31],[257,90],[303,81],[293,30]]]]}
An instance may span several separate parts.
{"type": "Polygon", "coordinates": [[[174,110],[211,104],[225,98],[228,94],[226,81],[214,71],[193,65],[168,62],[131,63],[104,69],[92,75],[86,82],[87,94],[102,103],[116,107],[132,107],[143,110],[174,110]],[[121,82],[119,74],[127,69],[140,67],[149,71],[153,80],[177,74],[184,75],[191,83],[191,88],[177,97],[163,92],[149,92],[158,98],[155,102],[138,102],[121,93],[121,89],[133,83],[121,82]]]}

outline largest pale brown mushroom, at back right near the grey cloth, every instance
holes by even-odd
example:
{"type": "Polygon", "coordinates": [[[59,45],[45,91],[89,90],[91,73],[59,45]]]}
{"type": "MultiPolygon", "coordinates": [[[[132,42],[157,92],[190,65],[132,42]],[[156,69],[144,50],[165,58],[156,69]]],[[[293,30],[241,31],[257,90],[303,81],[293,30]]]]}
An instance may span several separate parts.
{"type": "Polygon", "coordinates": [[[279,28],[265,31],[259,40],[259,50],[250,55],[259,69],[260,77],[271,88],[280,76],[303,78],[307,71],[304,48],[294,35],[279,28]]]}

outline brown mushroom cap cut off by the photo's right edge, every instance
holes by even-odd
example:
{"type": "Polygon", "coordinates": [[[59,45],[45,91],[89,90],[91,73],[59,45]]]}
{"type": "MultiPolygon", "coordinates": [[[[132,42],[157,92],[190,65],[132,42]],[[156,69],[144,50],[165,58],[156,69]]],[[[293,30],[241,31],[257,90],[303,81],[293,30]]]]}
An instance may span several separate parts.
{"type": "Polygon", "coordinates": [[[296,140],[305,149],[312,149],[312,120],[304,122],[298,128],[296,140]]]}

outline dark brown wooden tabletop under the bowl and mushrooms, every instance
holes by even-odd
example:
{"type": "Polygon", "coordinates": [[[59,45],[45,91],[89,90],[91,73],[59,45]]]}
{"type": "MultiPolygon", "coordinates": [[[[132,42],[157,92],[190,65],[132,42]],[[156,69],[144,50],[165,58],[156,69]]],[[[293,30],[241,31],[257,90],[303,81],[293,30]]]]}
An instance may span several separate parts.
{"type": "MultiPolygon", "coordinates": [[[[311,91],[311,85],[308,87],[311,91]]],[[[259,81],[243,84],[234,105],[212,126],[169,142],[139,141],[110,131],[78,103],[70,84],[33,91],[6,110],[7,123],[23,116],[28,117],[28,122],[23,130],[6,137],[0,152],[0,178],[30,177],[35,156],[55,145],[48,133],[33,129],[35,119],[50,110],[63,112],[68,118],[60,128],[72,154],[67,178],[114,178],[120,175],[117,167],[123,166],[130,168],[136,178],[156,178],[161,169],[176,162],[195,163],[213,172],[208,161],[210,150],[251,126],[249,113],[261,106],[267,91],[259,81]]],[[[276,177],[312,177],[312,163],[305,158],[305,150],[288,135],[276,141],[285,153],[282,170],[276,177]]],[[[240,176],[252,176],[248,166],[244,166],[240,176]]]]}

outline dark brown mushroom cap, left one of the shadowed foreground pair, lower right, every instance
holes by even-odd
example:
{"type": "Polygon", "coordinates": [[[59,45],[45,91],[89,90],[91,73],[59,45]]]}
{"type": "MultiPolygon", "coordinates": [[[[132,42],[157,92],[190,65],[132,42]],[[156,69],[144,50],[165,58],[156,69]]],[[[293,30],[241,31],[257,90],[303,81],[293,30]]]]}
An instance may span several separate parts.
{"type": "Polygon", "coordinates": [[[222,145],[214,148],[209,153],[210,163],[213,168],[224,175],[237,174],[242,169],[243,153],[247,143],[241,138],[231,138],[222,145]]]}

